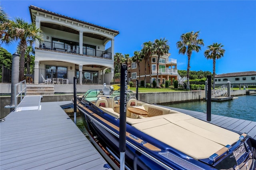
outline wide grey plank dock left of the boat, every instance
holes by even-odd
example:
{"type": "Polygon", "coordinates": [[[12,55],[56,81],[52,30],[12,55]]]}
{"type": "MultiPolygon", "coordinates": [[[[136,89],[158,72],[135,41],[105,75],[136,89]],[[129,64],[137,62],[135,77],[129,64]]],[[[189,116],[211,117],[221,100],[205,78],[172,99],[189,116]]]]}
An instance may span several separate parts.
{"type": "MultiPolygon", "coordinates": [[[[68,103],[71,103],[68,101],[68,103]]],[[[10,113],[0,123],[0,169],[110,169],[63,111],[67,102],[10,113]]]]}

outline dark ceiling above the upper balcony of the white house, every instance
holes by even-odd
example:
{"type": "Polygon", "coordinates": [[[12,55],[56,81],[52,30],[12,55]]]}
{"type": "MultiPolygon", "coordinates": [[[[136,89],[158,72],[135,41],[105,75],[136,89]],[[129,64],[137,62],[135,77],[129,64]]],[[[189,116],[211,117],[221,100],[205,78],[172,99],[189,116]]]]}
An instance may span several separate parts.
{"type": "MultiPolygon", "coordinates": [[[[58,25],[58,24],[41,22],[41,26],[47,27],[47,28],[52,28],[54,30],[60,30],[60,31],[70,32],[72,34],[79,35],[79,32],[77,30],[74,30],[74,29],[66,27],[66,26],[58,25]]],[[[98,40],[105,40],[105,38],[106,38],[102,35],[92,34],[92,33],[87,33],[87,32],[84,32],[83,36],[90,37],[90,38],[95,38],[95,39],[98,39],[98,40]]]]}

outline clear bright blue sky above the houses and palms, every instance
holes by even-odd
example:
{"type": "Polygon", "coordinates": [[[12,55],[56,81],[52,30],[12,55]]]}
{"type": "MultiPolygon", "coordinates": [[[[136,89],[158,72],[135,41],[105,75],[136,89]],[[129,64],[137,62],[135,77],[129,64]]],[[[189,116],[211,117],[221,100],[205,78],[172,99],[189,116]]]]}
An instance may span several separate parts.
{"type": "MultiPolygon", "coordinates": [[[[171,58],[177,68],[187,69],[187,56],[178,54],[176,42],[183,33],[200,31],[204,47],[193,52],[190,70],[211,71],[212,60],[204,51],[213,42],[222,43],[226,53],[216,61],[216,73],[256,71],[256,1],[71,1],[71,0],[1,0],[10,19],[20,17],[31,22],[28,6],[34,5],[118,30],[114,53],[129,54],[142,48],[142,43],[166,38],[171,58]],[[15,4],[15,5],[14,5],[15,4]]],[[[4,45],[10,53],[16,43],[4,45]]]]}

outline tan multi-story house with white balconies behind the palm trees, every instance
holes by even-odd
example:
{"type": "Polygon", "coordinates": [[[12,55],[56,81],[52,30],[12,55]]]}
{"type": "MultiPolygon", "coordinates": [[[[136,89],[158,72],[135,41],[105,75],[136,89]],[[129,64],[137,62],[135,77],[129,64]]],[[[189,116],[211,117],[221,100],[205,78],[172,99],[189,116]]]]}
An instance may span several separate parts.
{"type": "MultiPolygon", "coordinates": [[[[158,72],[158,82],[164,84],[166,80],[170,80],[172,84],[172,79],[178,80],[178,70],[177,70],[177,59],[169,58],[170,53],[160,57],[159,60],[159,72],[158,72]]],[[[151,68],[151,78],[153,82],[156,81],[157,75],[157,56],[153,55],[150,58],[150,68],[151,68]]],[[[145,60],[142,59],[140,62],[140,81],[145,80],[145,67],[146,67],[146,83],[150,82],[150,74],[148,70],[148,63],[145,65],[145,60]]],[[[139,79],[139,68],[136,62],[131,63],[131,69],[128,70],[131,72],[131,81],[136,82],[136,79],[139,79]]]]}

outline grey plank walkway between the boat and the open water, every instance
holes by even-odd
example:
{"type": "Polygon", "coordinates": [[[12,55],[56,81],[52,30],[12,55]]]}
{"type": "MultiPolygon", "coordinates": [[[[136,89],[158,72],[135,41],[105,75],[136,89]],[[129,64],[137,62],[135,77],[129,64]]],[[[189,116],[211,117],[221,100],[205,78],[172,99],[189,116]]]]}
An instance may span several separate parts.
{"type": "MultiPolygon", "coordinates": [[[[185,109],[179,109],[174,107],[168,107],[172,110],[179,111],[182,113],[186,113],[192,117],[195,117],[197,119],[201,119],[203,121],[206,121],[206,114],[196,111],[188,111],[185,109]]],[[[211,115],[212,120],[210,123],[214,125],[218,125],[223,128],[228,128],[230,130],[235,130],[237,132],[241,133],[247,133],[252,138],[256,139],[256,122],[254,121],[246,121],[243,119],[236,119],[232,117],[224,117],[220,115],[211,115]]]]}

